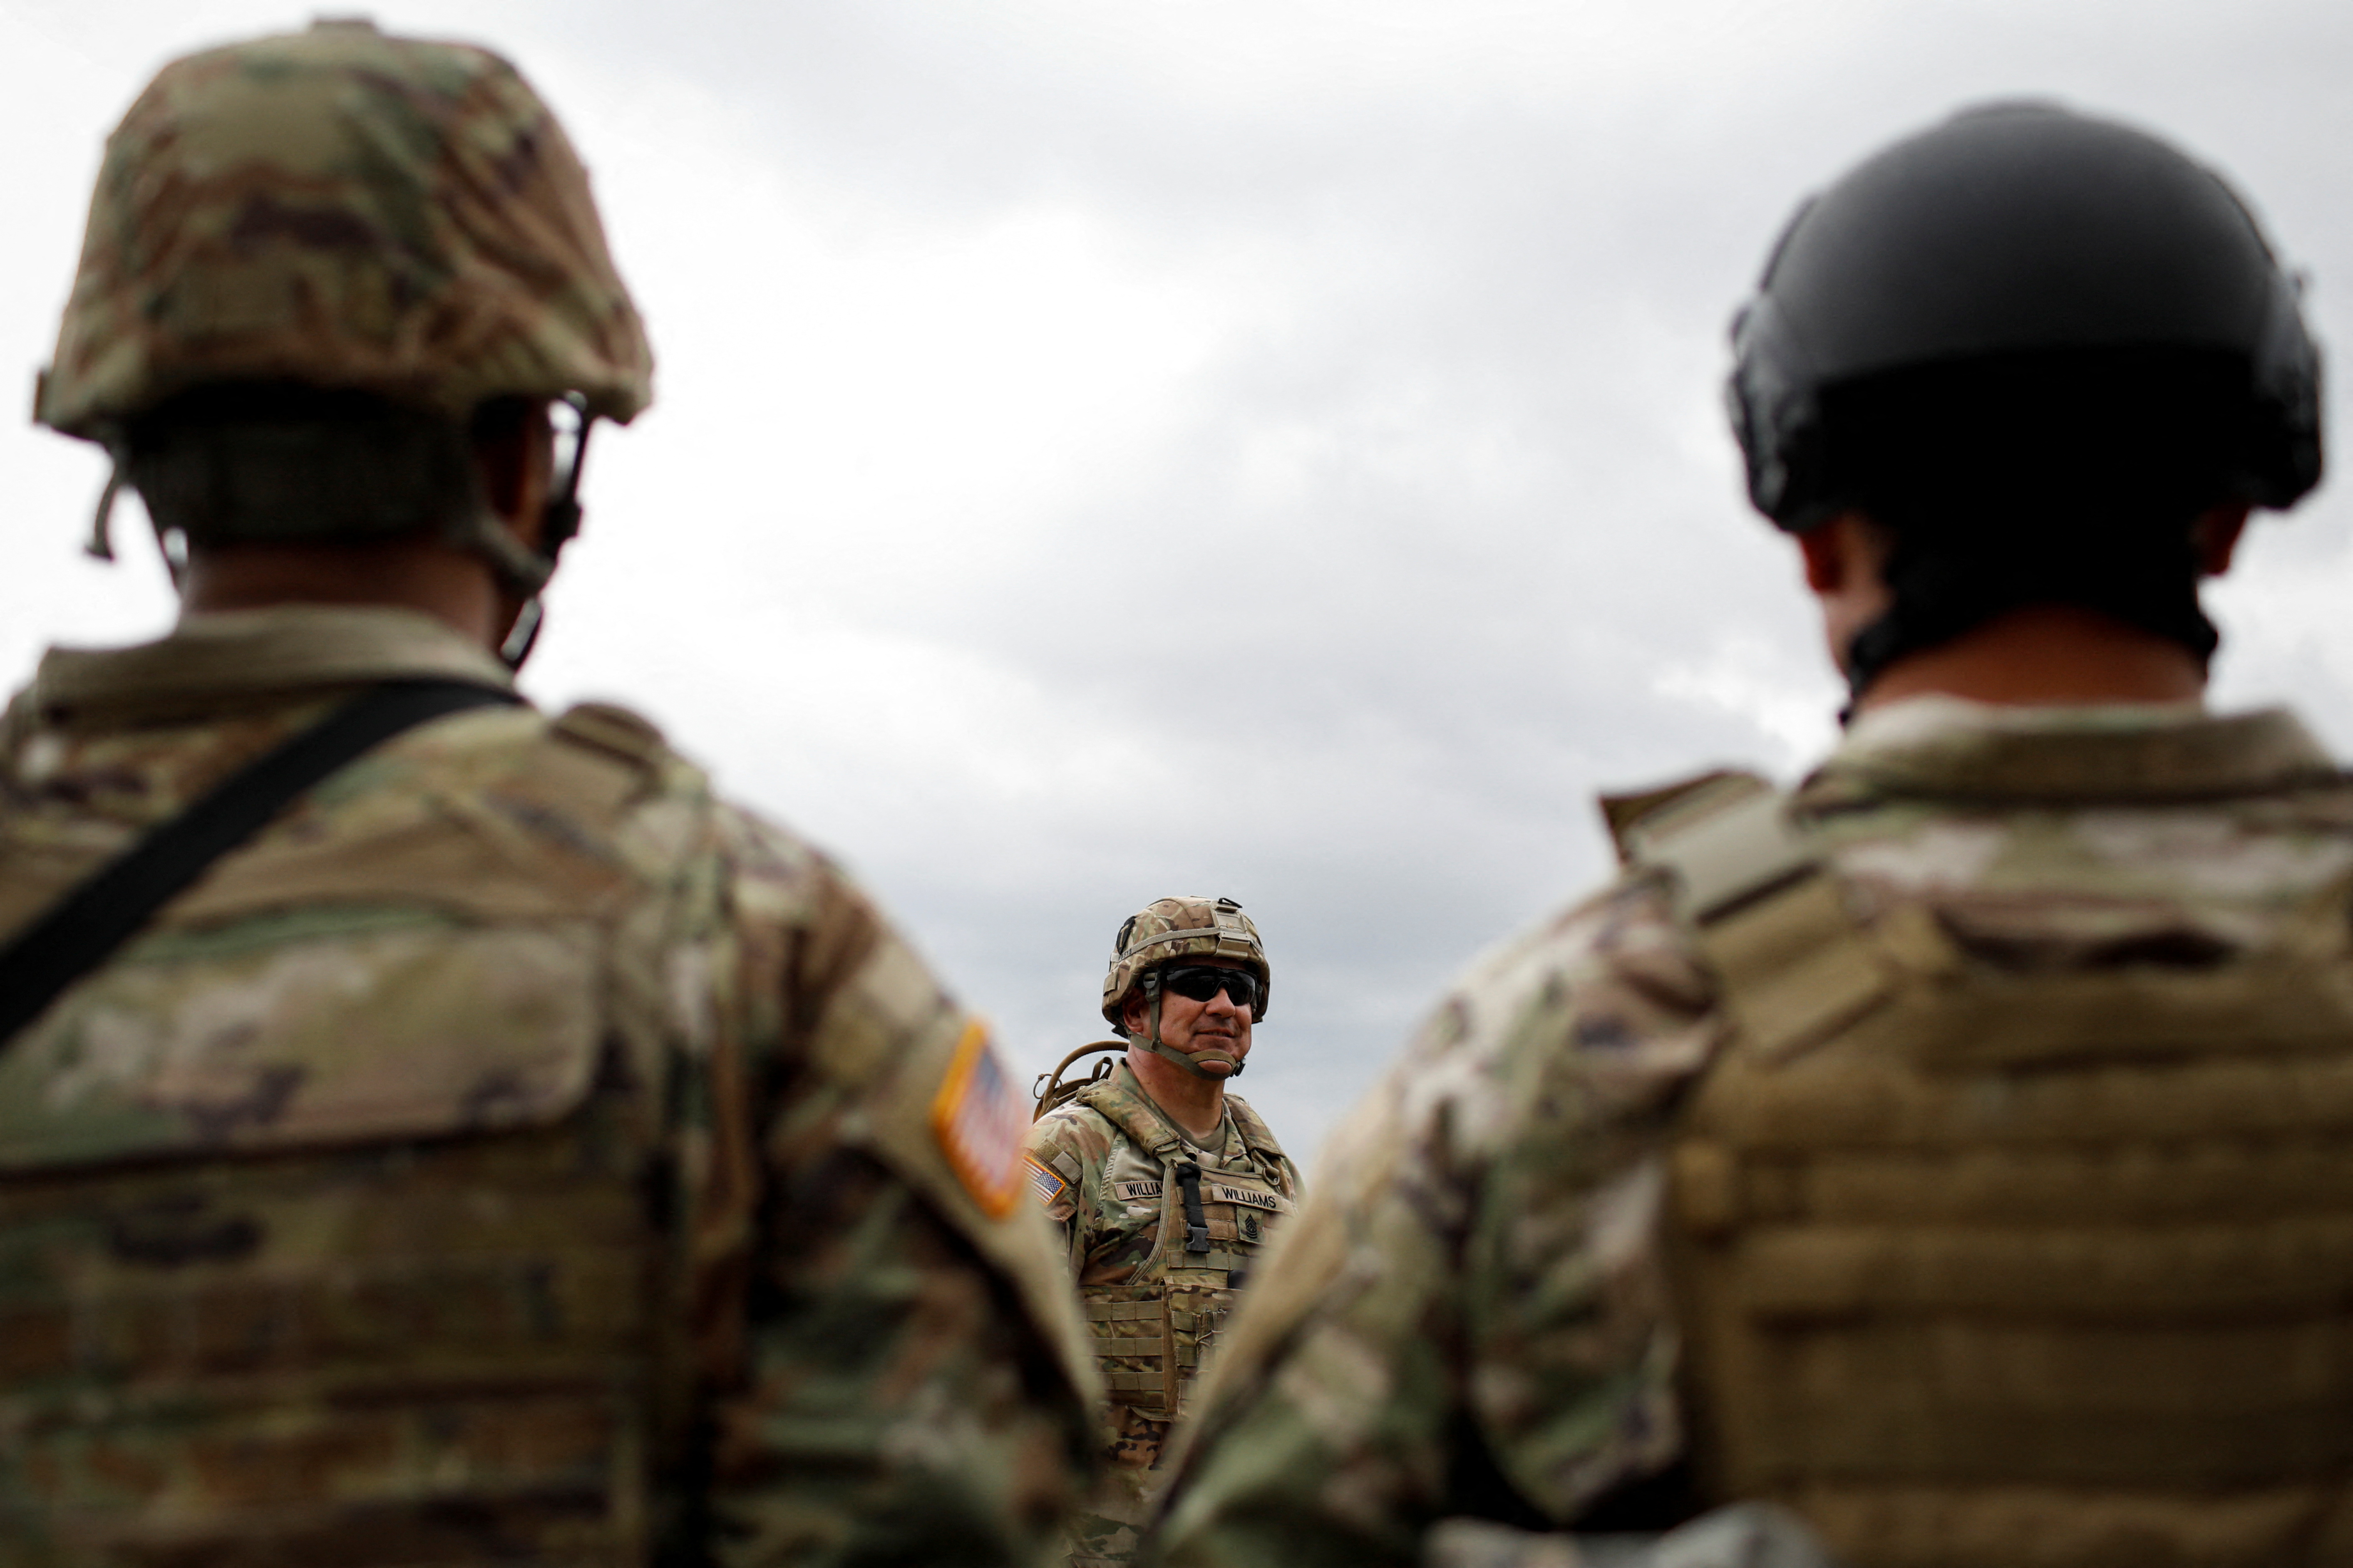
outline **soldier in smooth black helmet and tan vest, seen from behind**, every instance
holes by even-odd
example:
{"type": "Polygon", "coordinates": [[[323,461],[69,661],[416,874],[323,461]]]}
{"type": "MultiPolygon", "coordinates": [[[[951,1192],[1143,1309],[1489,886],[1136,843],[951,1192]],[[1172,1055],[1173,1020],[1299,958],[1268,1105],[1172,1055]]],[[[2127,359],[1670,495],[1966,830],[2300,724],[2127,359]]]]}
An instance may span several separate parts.
{"type": "Polygon", "coordinates": [[[2320,477],[2294,280],[1995,106],[1802,207],[1734,360],[1847,736],[1602,802],[1626,875],[1334,1138],[1165,1561],[2353,1563],[2353,785],[2205,710],[2198,604],[2320,477]]]}

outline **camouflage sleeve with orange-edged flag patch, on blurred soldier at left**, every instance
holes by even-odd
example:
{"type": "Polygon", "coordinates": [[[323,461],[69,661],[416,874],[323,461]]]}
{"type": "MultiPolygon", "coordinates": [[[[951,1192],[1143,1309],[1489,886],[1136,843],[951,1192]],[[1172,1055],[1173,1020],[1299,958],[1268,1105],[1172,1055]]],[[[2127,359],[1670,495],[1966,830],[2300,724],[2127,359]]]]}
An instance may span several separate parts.
{"type": "Polygon", "coordinates": [[[713,1561],[1040,1561],[1092,1465],[1092,1371],[1021,1182],[1028,1105],[831,865],[727,835],[739,1004],[779,1048],[713,1067],[689,1161],[713,1561]],[[729,1133],[736,1095],[758,1117],[729,1133]]]}

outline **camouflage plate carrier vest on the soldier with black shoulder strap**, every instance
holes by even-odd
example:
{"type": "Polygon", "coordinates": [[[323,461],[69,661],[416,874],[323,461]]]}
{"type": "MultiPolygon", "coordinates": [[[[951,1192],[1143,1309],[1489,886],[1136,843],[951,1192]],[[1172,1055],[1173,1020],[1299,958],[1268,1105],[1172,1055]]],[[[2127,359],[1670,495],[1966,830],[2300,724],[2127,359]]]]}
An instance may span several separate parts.
{"type": "MultiPolygon", "coordinates": [[[[553,731],[532,766],[595,846],[678,766],[619,710],[478,722],[553,731]]],[[[271,907],[275,879],[282,931],[167,919],[7,1041],[14,1568],[652,1559],[696,1356],[736,1347],[685,1286],[748,1246],[755,1185],[746,1041],[713,1018],[689,1039],[687,976],[628,954],[659,912],[725,973],[725,889],[522,835],[456,865],[452,842],[395,823],[224,860],[207,896],[271,907]],[[75,1072],[172,1110],[59,1114],[75,1072]],[[711,1107],[685,1161],[680,1093],[711,1107]]]]}

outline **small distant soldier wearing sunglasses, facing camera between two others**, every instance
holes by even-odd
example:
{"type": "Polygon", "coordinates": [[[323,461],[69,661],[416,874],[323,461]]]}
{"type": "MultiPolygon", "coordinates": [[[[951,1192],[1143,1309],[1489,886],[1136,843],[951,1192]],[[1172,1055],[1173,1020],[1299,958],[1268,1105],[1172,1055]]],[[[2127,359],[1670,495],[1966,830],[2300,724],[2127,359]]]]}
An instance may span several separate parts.
{"type": "Polygon", "coordinates": [[[1071,1528],[1071,1568],[1134,1559],[1186,1389],[1299,1197],[1282,1145],[1226,1093],[1268,978],[1259,929],[1231,898],[1146,905],[1104,978],[1125,1058],[1068,1100],[1049,1095],[1031,1128],[1031,1182],[1064,1227],[1111,1392],[1108,1474],[1071,1528]]]}

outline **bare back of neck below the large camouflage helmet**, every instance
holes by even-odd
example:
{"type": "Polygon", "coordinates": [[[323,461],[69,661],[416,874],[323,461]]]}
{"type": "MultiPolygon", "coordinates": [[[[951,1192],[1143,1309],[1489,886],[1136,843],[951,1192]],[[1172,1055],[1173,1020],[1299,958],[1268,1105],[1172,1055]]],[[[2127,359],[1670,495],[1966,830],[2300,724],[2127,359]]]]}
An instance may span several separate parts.
{"type": "Polygon", "coordinates": [[[235,543],[188,555],[181,618],[278,604],[414,609],[492,651],[515,621],[489,567],[440,541],[235,543]]]}

